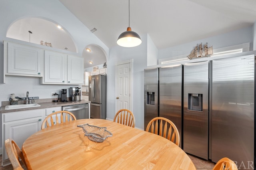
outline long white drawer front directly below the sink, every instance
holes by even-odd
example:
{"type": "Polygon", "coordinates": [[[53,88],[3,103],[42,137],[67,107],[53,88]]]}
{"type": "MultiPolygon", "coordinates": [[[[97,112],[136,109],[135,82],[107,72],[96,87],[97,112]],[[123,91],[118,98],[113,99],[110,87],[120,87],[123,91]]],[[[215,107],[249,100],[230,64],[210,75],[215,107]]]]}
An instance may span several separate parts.
{"type": "Polygon", "coordinates": [[[44,109],[3,113],[3,122],[6,123],[10,121],[19,121],[23,119],[42,117],[42,115],[44,115],[44,109]]]}

